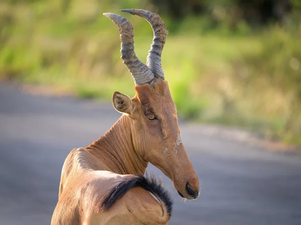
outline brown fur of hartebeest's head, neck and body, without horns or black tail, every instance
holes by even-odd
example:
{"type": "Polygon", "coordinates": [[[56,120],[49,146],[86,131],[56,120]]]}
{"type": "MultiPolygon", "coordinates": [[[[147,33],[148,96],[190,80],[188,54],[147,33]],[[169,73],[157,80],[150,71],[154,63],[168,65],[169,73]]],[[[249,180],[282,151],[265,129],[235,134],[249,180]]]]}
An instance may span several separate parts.
{"type": "Polygon", "coordinates": [[[185,197],[191,198],[187,182],[199,189],[198,177],[179,141],[177,110],[168,83],[158,78],[136,85],[135,91],[133,98],[115,92],[113,105],[124,114],[97,141],[67,156],[52,225],[167,224],[165,206],[139,187],[131,188],[107,211],[97,206],[121,180],[143,174],[148,162],[170,177],[185,197]],[[149,120],[148,114],[158,119],[149,120]]]}

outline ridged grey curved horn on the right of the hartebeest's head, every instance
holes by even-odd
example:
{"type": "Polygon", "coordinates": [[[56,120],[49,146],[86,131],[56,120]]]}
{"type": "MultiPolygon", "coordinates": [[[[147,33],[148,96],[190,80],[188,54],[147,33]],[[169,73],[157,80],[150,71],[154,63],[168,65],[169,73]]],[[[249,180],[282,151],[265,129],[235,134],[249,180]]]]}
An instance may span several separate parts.
{"type": "Polygon", "coordinates": [[[143,9],[121,9],[120,11],[129,12],[145,18],[154,30],[154,39],[148,51],[146,64],[153,71],[156,77],[164,79],[164,72],[161,67],[161,54],[166,41],[167,29],[160,15],[143,9]]]}

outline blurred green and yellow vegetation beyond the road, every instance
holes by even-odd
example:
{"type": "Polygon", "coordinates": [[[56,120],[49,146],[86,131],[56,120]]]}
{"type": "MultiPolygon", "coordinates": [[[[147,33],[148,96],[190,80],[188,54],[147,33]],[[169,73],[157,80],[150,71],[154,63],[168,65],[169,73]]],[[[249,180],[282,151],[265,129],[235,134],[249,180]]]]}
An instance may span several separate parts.
{"type": "Polygon", "coordinates": [[[133,96],[118,28],[102,13],[132,22],[135,52],[145,63],[152,29],[119,9],[160,6],[169,28],[162,64],[182,117],[301,145],[301,1],[291,1],[281,19],[255,25],[237,18],[234,0],[200,1],[179,17],[163,2],[0,1],[0,78],[64,87],[83,98],[110,99],[115,90],[133,96]]]}

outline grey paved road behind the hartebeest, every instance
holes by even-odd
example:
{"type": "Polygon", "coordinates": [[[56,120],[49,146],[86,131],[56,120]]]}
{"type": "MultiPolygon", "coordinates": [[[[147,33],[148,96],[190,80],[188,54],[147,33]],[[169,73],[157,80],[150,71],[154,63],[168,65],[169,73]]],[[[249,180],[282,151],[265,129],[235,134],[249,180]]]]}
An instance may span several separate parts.
{"type": "MultiPolygon", "coordinates": [[[[60,173],[73,147],[86,146],[118,119],[110,104],[21,94],[0,83],[0,224],[50,224],[60,173]]],[[[204,134],[180,124],[202,193],[175,198],[170,224],[300,225],[301,156],[204,134]]]]}

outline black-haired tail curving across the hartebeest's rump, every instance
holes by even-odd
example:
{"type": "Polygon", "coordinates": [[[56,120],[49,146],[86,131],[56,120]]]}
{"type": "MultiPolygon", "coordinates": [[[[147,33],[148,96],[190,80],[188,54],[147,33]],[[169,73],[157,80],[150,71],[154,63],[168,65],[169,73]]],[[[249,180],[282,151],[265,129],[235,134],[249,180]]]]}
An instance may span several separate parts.
{"type": "Polygon", "coordinates": [[[167,208],[167,213],[169,216],[172,215],[173,201],[163,184],[156,179],[154,175],[143,176],[137,174],[136,176],[125,179],[113,189],[102,199],[100,204],[100,210],[104,211],[111,207],[114,202],[122,197],[131,187],[139,186],[148,192],[154,194],[156,197],[161,199],[167,208]]]}

